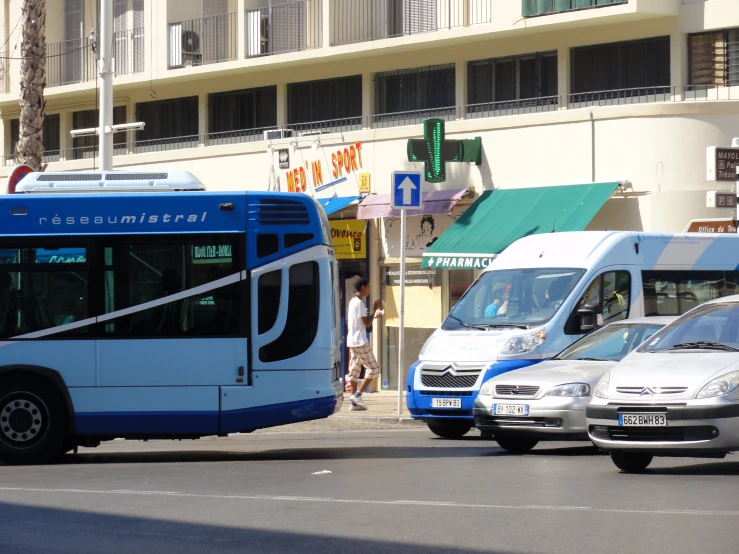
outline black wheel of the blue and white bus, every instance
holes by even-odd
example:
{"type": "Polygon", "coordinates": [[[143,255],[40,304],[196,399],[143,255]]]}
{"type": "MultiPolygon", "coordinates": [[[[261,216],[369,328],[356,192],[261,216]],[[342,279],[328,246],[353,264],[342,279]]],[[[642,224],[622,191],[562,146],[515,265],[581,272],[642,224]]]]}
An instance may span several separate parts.
{"type": "Polygon", "coordinates": [[[41,379],[13,375],[0,380],[0,460],[8,464],[52,462],[69,450],[64,400],[41,379]]]}

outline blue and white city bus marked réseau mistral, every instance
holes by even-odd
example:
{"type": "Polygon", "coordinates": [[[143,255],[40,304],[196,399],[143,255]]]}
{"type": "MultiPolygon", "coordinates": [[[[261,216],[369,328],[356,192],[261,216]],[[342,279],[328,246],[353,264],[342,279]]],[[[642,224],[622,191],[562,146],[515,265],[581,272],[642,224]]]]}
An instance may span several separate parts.
{"type": "Polygon", "coordinates": [[[0,460],[339,410],[325,212],[203,188],[183,171],[32,173],[0,196],[0,460]]]}

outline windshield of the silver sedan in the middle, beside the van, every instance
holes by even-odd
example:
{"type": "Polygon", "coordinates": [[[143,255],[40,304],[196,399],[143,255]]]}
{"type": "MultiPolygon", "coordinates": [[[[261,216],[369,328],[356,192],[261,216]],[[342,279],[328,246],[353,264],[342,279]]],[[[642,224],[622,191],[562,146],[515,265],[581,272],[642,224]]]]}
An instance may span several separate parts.
{"type": "Polygon", "coordinates": [[[554,359],[619,362],[662,327],[657,323],[608,325],[565,348],[554,359]]]}

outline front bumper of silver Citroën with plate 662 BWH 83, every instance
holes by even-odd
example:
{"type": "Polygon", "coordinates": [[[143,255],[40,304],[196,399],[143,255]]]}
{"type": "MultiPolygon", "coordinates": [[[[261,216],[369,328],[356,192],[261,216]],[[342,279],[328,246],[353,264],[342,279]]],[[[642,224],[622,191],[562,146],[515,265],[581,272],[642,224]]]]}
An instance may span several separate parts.
{"type": "Polygon", "coordinates": [[[656,456],[701,456],[739,450],[739,403],[721,400],[683,404],[609,402],[588,406],[588,436],[605,452],[649,452],[656,456]],[[667,415],[666,427],[619,425],[619,413],[667,415]],[[663,410],[657,411],[659,408],[663,410]]]}

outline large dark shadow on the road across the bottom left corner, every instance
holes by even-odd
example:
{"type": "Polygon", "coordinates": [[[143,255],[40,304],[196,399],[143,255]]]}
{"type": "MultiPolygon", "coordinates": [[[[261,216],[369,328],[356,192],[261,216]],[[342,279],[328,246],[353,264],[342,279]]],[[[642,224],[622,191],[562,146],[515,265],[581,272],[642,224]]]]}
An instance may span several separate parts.
{"type": "MultiPolygon", "coordinates": [[[[260,554],[442,554],[449,547],[429,546],[379,539],[357,539],[351,533],[333,537],[289,530],[268,531],[256,528],[227,527],[164,521],[161,519],[99,514],[70,509],[42,508],[0,502],[4,531],[0,536],[3,554],[114,554],[117,552],[184,552],[260,554]]],[[[248,518],[246,518],[248,520],[248,518]]],[[[290,526],[289,521],[284,522],[290,526]]],[[[479,554],[455,545],[454,552],[479,554]]],[[[500,552],[485,550],[484,552],[500,552]]]]}

